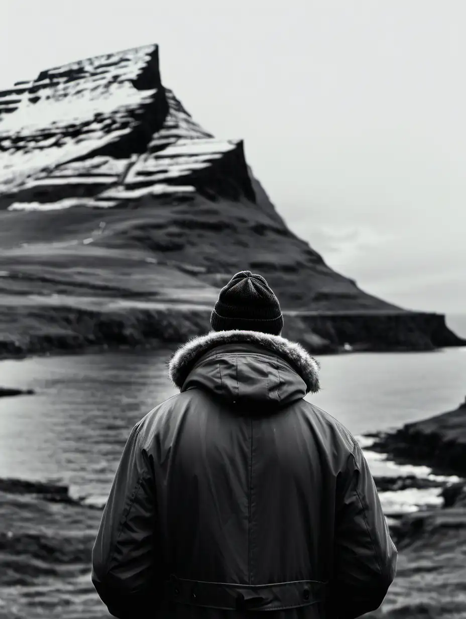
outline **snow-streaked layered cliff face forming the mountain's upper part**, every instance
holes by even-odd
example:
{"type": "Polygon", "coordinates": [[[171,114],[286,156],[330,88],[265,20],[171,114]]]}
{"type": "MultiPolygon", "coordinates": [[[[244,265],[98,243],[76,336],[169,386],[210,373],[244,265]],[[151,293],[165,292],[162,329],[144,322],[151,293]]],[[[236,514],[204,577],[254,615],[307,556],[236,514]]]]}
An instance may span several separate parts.
{"type": "Polygon", "coordinates": [[[18,82],[0,92],[0,120],[9,210],[105,209],[204,189],[254,200],[242,142],[192,121],[160,81],[155,45],[18,82]]]}

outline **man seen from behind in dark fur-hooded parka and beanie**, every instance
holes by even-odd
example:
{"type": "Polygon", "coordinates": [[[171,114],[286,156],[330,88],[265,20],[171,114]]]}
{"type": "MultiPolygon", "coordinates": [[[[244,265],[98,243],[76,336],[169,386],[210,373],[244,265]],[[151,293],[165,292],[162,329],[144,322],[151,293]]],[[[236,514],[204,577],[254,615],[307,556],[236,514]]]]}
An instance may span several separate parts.
{"type": "Polygon", "coordinates": [[[378,608],[397,551],[360,447],[303,399],[319,364],[280,337],[278,300],[250,271],[210,321],[171,358],[179,394],[126,443],[93,547],[98,594],[120,619],[378,608]]]}

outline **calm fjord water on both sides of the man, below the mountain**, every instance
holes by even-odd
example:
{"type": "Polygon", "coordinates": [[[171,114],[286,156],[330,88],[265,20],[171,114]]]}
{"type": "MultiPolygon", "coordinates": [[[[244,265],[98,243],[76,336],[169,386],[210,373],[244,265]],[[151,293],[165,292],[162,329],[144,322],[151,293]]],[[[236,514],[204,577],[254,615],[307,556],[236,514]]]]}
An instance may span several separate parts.
{"type": "MultiPolygon", "coordinates": [[[[67,483],[103,504],[132,426],[176,390],[173,350],[0,362],[0,384],[33,396],[0,400],[0,478],[67,483]]],[[[466,348],[318,357],[321,392],[306,396],[359,437],[451,410],[466,393],[466,348]]],[[[368,441],[361,439],[361,446],[368,441]]],[[[367,452],[373,474],[395,475],[367,452]]]]}

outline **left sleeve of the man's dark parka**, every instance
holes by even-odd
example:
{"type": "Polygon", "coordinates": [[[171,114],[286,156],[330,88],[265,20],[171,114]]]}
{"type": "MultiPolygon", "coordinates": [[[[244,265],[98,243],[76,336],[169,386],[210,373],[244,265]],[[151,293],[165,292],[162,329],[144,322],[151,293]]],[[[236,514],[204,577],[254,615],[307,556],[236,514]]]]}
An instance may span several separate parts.
{"type": "MultiPolygon", "coordinates": [[[[157,500],[149,458],[131,431],[92,549],[92,583],[108,612],[145,617],[157,605],[157,500]]],[[[149,616],[149,615],[147,615],[149,616]]]]}

